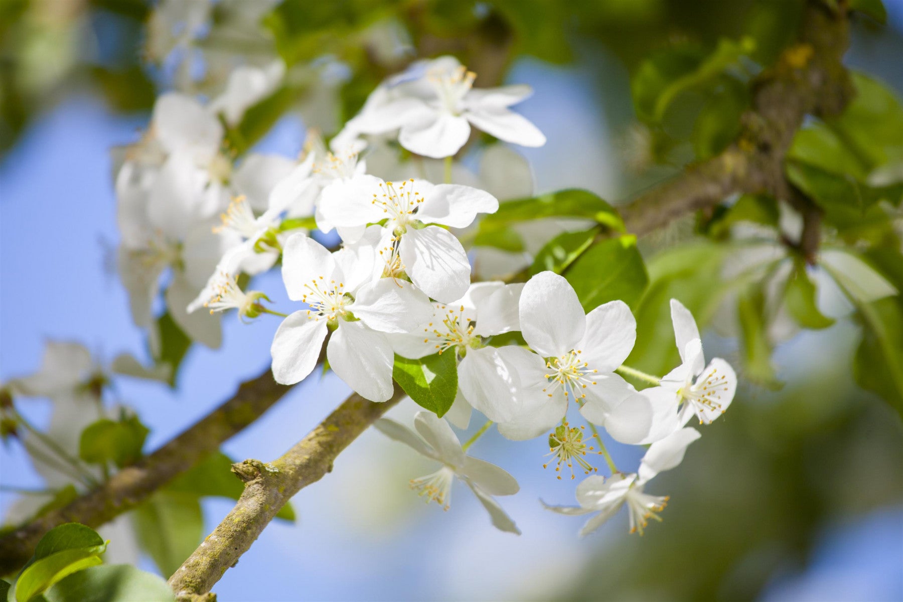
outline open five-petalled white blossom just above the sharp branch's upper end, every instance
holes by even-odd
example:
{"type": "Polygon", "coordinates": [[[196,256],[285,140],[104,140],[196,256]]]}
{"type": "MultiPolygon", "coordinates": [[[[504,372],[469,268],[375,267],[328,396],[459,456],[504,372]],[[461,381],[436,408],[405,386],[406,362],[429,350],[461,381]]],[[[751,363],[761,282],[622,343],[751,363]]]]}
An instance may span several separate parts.
{"type": "Polygon", "coordinates": [[[395,356],[386,332],[410,332],[427,320],[432,306],[410,282],[373,280],[375,253],[323,245],[296,234],[286,241],[282,274],[293,301],[308,309],[289,315],[276,330],[271,353],[273,376],[293,384],[311,374],[323,339],[330,368],[370,401],[392,396],[395,356]]]}

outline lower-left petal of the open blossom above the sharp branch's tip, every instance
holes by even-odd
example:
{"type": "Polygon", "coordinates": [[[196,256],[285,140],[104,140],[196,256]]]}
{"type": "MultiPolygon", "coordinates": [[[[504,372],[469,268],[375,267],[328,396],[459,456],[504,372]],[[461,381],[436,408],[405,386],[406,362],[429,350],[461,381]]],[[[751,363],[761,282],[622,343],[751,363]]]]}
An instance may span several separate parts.
{"type": "Polygon", "coordinates": [[[275,381],[295,384],[311,374],[328,330],[326,320],[310,320],[306,310],[295,311],[283,320],[270,347],[275,381]]]}

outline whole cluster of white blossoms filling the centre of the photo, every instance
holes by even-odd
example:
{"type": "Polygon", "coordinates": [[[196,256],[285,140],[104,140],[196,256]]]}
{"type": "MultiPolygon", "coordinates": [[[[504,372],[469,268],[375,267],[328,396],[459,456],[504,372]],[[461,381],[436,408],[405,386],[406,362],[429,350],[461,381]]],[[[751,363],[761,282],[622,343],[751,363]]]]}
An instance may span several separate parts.
{"type": "MultiPolygon", "coordinates": [[[[529,95],[528,87],[472,88],[474,79],[451,57],[414,63],[373,92],[329,149],[311,134],[297,161],[251,154],[237,169],[222,124],[237,122],[247,98],[204,107],[179,94],[161,97],[148,133],[128,149],[116,179],[120,267],[135,321],[150,325],[160,275],[169,267],[168,310],[195,340],[219,344],[219,320],[211,316],[219,311],[236,309],[242,319],[284,317],[272,345],[273,375],[282,384],[310,375],[323,361],[325,343],[336,375],[368,400],[385,402],[396,391],[396,356],[453,354],[458,388],[449,421],[467,428],[476,409],[510,440],[551,431],[558,477],[564,465],[573,478],[574,463],[589,475],[578,487],[580,508],[552,509],[599,511],[588,532],[626,502],[631,525],[641,532],[666,499],[644,494],[643,487],[674,468],[699,436],[684,428],[692,416],[709,423],[727,409],[735,375],[721,359],[705,365],[694,319],[677,301],[672,317],[682,364],[658,379],[622,366],[637,330],[624,302],[586,313],[571,284],[552,272],[526,283],[470,282],[473,268],[461,243],[466,228],[497,211],[499,197],[517,196],[510,190],[529,194],[532,182],[529,168],[507,150],[485,153],[504,167],[493,171],[484,161],[479,177],[462,176],[452,156],[468,144],[471,125],[509,143],[545,143],[535,125],[509,108],[529,95]],[[416,161],[387,162],[393,140],[416,161]],[[430,163],[435,159],[444,162],[430,163]],[[434,173],[439,181],[440,171],[444,183],[424,177],[434,173]],[[519,181],[499,185],[500,171],[519,181]],[[321,244],[310,236],[314,229],[335,229],[340,244],[321,244]],[[301,304],[288,315],[265,307],[265,292],[238,284],[242,273],[261,273],[280,260],[288,297],[301,304]],[[638,391],[619,373],[655,386],[638,391]],[[638,474],[590,474],[595,468],[585,456],[601,452],[583,440],[583,428],[571,426],[572,403],[600,449],[597,426],[619,442],[651,444],[638,474]]],[[[534,244],[566,229],[548,222],[540,228],[534,244]]],[[[495,263],[513,273],[524,261],[495,263]]],[[[377,423],[442,462],[412,486],[447,507],[452,477],[460,477],[499,529],[519,533],[491,497],[516,493],[514,478],[466,456],[468,444],[462,448],[435,414],[420,412],[415,426],[423,440],[396,422],[377,423]]]]}

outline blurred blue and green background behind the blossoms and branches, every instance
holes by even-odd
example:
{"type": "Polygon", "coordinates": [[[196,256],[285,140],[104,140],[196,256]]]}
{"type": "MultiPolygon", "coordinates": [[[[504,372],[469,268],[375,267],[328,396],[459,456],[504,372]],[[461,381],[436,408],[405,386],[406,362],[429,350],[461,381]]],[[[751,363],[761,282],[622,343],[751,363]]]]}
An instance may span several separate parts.
{"type": "MultiPolygon", "coordinates": [[[[506,79],[535,89],[518,109],[548,137],[542,148],[519,149],[536,189],[582,187],[617,202],[669,175],[631,169],[630,69],[668,36],[711,42],[743,32],[751,4],[600,2],[592,22],[548,23],[556,31],[540,28],[521,41],[506,79]],[[566,63],[528,56],[531,43],[565,42],[566,63]]],[[[903,93],[903,2],[885,5],[887,25],[853,23],[846,60],[903,93]]],[[[47,339],[77,340],[107,359],[121,351],[147,357],[113,263],[110,149],[135,141],[159,81],[141,67],[145,17],[133,8],[79,0],[0,6],[0,381],[36,369],[47,339]]],[[[294,156],[304,135],[300,116],[284,116],[256,150],[294,156]]],[[[644,251],[666,239],[644,241],[644,251]]],[[[255,288],[285,307],[278,273],[255,288]]],[[[192,347],[177,388],[117,384],[116,397],[152,429],[149,449],[265,369],[277,324],[228,315],[223,346],[192,347]]],[[[272,523],[215,591],[224,602],[903,599],[903,427],[886,403],[853,384],[860,336],[851,320],[839,320],[791,338],[773,357],[784,382],[777,391],[744,383],[740,371],[731,411],[704,430],[680,468],[656,478],[653,493],[671,501],[664,523],[643,537],[628,535],[619,515],[578,539],[580,518],[545,512],[540,498],[573,503],[573,483],[543,470],[542,438],[512,443],[492,431],[472,448],[521,485],[500,499],[523,531],[515,537],[493,530],[463,486],[447,513],[424,505],[407,480],[432,472],[431,463],[371,431],[294,498],[297,523],[272,523]]],[[[710,332],[705,345],[740,365],[735,340],[710,332]]],[[[224,450],[275,458],[347,394],[333,375],[312,377],[224,450]]],[[[409,421],[414,408],[389,415],[409,421]]],[[[50,404],[23,404],[23,412],[45,424],[50,404]]],[[[642,454],[613,442],[610,449],[624,468],[642,454]]],[[[41,486],[14,441],[0,448],[0,483],[41,486]]],[[[0,513],[16,497],[0,490],[0,513]]],[[[205,533],[231,506],[205,501],[205,533]]],[[[150,560],[140,563],[154,570],[150,560]]]]}

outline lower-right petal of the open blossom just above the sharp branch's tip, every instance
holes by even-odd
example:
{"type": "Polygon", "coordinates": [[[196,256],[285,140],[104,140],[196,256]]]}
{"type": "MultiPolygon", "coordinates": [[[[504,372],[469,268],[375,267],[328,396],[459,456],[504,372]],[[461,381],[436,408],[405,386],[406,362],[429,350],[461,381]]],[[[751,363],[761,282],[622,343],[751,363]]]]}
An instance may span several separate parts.
{"type": "Polygon", "coordinates": [[[386,335],[361,322],[340,320],[326,346],[330,368],[361,397],[385,402],[394,392],[392,365],[395,355],[386,335]]]}

